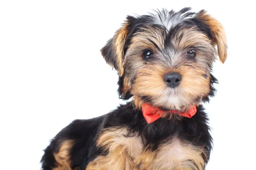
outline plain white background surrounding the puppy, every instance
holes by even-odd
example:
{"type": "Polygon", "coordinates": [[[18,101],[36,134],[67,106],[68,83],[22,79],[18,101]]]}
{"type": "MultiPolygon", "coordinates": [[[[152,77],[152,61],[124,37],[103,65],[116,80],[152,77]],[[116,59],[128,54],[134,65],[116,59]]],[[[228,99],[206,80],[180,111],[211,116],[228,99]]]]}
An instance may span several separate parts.
{"type": "Polygon", "coordinates": [[[213,75],[205,107],[214,149],[207,170],[255,168],[255,7],[196,0],[2,0],[0,2],[0,169],[39,170],[49,139],[74,119],[119,103],[118,76],[99,50],[128,14],[206,9],[224,26],[228,57],[213,75]]]}

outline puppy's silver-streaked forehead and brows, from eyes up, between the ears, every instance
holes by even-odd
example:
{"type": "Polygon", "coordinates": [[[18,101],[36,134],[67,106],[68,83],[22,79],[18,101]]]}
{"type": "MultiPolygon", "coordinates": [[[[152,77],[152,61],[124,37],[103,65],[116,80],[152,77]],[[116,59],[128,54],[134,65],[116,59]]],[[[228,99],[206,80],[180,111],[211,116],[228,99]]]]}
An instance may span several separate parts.
{"type": "Polygon", "coordinates": [[[196,13],[189,10],[190,8],[177,12],[162,10],[132,18],[131,32],[125,41],[125,62],[129,60],[128,56],[137,56],[147,49],[153,50],[163,61],[167,59],[167,62],[174,58],[183,59],[184,51],[190,48],[203,53],[210,51],[214,56],[210,43],[211,32],[196,17],[196,13]]]}

